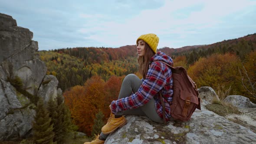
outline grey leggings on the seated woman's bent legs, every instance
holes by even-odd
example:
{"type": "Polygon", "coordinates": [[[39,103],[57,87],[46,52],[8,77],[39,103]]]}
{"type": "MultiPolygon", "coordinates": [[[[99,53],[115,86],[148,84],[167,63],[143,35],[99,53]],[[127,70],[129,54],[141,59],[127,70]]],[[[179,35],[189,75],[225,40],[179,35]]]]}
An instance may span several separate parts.
{"type": "MultiPolygon", "coordinates": [[[[142,81],[138,78],[137,75],[129,74],[125,76],[125,79],[122,82],[121,89],[119,92],[118,99],[125,98],[130,96],[132,93],[135,93],[138,91],[139,87],[141,86],[142,81]]],[[[163,119],[159,117],[156,109],[155,109],[155,101],[154,98],[152,98],[150,101],[148,101],[147,104],[135,108],[135,109],[129,109],[126,111],[119,111],[116,115],[145,115],[148,118],[150,118],[152,121],[163,123],[163,119]]],[[[100,139],[104,140],[108,137],[108,134],[100,134],[100,139]]]]}

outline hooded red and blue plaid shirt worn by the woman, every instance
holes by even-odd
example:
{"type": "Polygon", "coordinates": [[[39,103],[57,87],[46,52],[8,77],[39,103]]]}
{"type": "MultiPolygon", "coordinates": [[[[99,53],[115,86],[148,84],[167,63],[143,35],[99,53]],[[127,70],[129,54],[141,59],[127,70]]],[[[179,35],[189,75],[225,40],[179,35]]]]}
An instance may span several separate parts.
{"type": "Polygon", "coordinates": [[[145,105],[152,98],[155,100],[155,108],[158,115],[163,118],[162,105],[160,101],[161,92],[165,103],[165,117],[168,121],[171,118],[170,103],[173,95],[173,78],[171,68],[162,62],[167,62],[169,65],[173,65],[171,57],[167,56],[164,52],[156,53],[150,60],[150,67],[145,79],[142,79],[142,85],[138,89],[138,92],[126,97],[121,98],[111,103],[111,111],[115,114],[118,111],[125,111],[128,109],[138,108],[145,105]]]}

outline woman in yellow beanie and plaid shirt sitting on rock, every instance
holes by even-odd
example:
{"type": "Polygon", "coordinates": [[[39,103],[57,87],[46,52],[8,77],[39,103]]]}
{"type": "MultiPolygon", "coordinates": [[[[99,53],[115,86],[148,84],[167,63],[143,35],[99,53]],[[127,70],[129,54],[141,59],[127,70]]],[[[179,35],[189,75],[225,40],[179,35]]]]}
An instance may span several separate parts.
{"type": "Polygon", "coordinates": [[[107,124],[102,127],[102,133],[85,144],[103,144],[108,134],[126,124],[123,115],[145,115],[158,123],[163,123],[163,118],[166,121],[171,118],[169,104],[173,95],[173,79],[171,68],[163,62],[173,65],[173,60],[164,52],[157,52],[158,42],[158,36],[152,33],[137,39],[139,72],[143,79],[134,74],[125,77],[118,100],[109,105],[111,114],[107,124]],[[158,92],[164,97],[165,117],[158,92]]]}

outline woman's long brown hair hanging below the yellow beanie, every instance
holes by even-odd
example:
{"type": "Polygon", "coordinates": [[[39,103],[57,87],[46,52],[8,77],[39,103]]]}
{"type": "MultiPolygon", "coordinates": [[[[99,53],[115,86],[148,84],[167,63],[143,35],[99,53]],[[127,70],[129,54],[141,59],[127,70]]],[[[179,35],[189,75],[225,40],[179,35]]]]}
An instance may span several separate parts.
{"type": "Polygon", "coordinates": [[[145,43],[145,55],[138,56],[139,62],[139,73],[143,76],[143,79],[146,79],[148,73],[149,61],[152,56],[154,56],[154,51],[148,46],[148,43],[145,43]]]}

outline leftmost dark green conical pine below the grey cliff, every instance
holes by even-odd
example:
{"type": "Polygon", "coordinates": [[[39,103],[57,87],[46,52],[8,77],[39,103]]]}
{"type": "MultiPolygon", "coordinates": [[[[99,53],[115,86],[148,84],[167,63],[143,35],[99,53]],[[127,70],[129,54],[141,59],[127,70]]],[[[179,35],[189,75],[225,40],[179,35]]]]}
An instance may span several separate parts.
{"type": "Polygon", "coordinates": [[[36,108],[36,116],[33,121],[33,139],[36,144],[53,144],[53,124],[43,99],[39,98],[36,108]]]}

